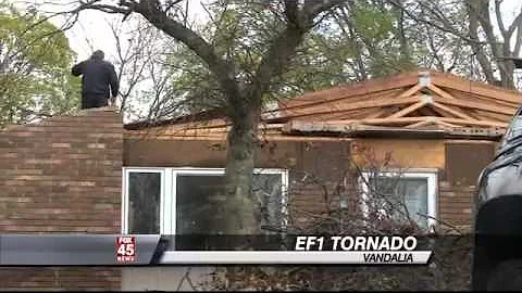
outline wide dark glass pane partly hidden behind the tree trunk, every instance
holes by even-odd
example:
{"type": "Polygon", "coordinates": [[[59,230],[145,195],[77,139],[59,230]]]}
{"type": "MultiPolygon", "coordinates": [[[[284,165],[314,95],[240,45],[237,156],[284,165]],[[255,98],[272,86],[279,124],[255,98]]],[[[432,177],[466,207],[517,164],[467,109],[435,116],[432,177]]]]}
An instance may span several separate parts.
{"type": "MultiPolygon", "coordinates": [[[[264,234],[281,231],[282,175],[254,174],[252,180],[254,214],[258,219],[254,225],[258,225],[264,234]]],[[[172,249],[231,250],[243,245],[248,249],[256,247],[252,235],[225,233],[227,221],[241,219],[229,218],[233,215],[225,208],[224,184],[224,175],[176,176],[176,237],[175,241],[171,241],[172,249]]],[[[261,240],[261,235],[256,238],[261,240]]]]}

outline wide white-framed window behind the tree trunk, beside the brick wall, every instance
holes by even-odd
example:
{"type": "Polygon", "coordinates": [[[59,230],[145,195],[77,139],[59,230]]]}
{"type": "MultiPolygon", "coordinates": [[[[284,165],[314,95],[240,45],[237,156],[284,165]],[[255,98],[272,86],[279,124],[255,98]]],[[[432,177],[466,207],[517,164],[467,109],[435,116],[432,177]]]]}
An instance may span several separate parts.
{"type": "MultiPolygon", "coordinates": [[[[220,234],[224,168],[124,167],[122,233],[220,234]]],[[[281,229],[287,214],[288,171],[254,169],[260,225],[281,229]],[[277,226],[277,227],[274,227],[277,226]]]]}

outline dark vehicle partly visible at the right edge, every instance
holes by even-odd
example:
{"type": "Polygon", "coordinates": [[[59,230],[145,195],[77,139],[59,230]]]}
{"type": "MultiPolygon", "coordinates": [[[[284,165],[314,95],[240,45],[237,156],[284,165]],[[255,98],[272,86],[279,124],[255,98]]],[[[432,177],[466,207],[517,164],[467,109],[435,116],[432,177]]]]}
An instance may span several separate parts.
{"type": "Polygon", "coordinates": [[[522,290],[522,107],[478,177],[472,290],[522,290]]]}

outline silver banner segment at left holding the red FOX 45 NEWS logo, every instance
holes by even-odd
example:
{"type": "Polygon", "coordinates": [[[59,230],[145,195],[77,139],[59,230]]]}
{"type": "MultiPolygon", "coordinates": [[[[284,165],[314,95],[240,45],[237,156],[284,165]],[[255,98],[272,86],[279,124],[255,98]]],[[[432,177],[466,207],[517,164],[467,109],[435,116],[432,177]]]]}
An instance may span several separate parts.
{"type": "Polygon", "coordinates": [[[0,234],[0,266],[149,265],[158,263],[160,238],[157,234],[0,234]]]}

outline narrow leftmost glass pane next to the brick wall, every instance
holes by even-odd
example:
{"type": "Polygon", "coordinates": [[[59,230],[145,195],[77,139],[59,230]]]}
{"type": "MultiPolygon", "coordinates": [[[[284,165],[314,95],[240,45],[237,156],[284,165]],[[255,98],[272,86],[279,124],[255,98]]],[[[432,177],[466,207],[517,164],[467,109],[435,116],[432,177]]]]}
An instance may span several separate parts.
{"type": "Polygon", "coordinates": [[[128,175],[128,232],[160,233],[160,173],[128,175]]]}

